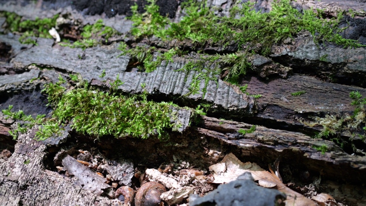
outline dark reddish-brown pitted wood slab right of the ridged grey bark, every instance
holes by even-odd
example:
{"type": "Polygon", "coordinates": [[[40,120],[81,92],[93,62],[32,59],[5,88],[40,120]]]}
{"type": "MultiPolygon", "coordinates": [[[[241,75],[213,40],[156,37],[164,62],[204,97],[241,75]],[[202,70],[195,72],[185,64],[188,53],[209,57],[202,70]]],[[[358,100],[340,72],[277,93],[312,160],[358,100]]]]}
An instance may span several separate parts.
{"type": "Polygon", "coordinates": [[[350,92],[359,91],[366,95],[364,88],[328,83],[299,74],[271,81],[251,77],[243,83],[248,84],[249,93],[262,94],[262,98],[256,101],[257,113],[248,119],[249,122],[260,124],[259,122],[267,121],[270,128],[302,129],[304,125],[300,121],[303,119],[311,121],[311,117],[324,113],[352,114],[355,107],[351,106],[350,92]],[[300,96],[291,95],[297,91],[306,93],[300,96]]]}

